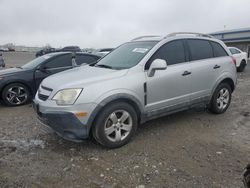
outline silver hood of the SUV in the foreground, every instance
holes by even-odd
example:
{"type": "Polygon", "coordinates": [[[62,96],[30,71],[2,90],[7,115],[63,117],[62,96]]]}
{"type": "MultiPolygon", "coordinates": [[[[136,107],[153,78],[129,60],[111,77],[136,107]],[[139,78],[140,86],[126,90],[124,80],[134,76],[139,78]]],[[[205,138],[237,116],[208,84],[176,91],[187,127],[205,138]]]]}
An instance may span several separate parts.
{"type": "Polygon", "coordinates": [[[57,90],[63,88],[84,87],[94,82],[121,77],[127,72],[127,69],[112,70],[86,65],[54,74],[44,79],[42,85],[57,90]]]}

